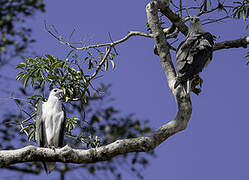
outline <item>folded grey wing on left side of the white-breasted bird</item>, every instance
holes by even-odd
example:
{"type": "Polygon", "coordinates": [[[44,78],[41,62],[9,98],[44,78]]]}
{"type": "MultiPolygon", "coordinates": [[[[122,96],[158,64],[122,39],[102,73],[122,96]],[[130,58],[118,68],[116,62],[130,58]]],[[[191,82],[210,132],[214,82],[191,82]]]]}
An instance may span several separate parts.
{"type": "Polygon", "coordinates": [[[40,101],[37,104],[37,115],[36,115],[36,142],[39,147],[44,147],[44,122],[42,120],[42,105],[43,102],[40,101]]]}

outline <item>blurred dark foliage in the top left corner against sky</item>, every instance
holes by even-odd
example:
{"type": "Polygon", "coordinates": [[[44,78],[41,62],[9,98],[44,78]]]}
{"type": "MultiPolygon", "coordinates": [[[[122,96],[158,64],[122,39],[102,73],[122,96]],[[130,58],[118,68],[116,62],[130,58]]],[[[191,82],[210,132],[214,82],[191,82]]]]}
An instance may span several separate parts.
{"type": "Polygon", "coordinates": [[[37,11],[45,11],[43,0],[0,1],[0,65],[6,63],[4,55],[18,55],[34,42],[24,22],[37,11]]]}

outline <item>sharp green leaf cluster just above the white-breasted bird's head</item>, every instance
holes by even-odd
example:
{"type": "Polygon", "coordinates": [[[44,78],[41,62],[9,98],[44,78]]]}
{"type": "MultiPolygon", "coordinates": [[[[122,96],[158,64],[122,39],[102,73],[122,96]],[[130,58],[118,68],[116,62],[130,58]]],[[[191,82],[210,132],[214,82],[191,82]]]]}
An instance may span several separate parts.
{"type": "Polygon", "coordinates": [[[64,90],[66,102],[80,99],[83,101],[82,103],[86,103],[87,95],[90,96],[89,86],[92,86],[91,81],[102,66],[104,71],[108,70],[109,62],[114,68],[113,58],[115,54],[111,53],[110,49],[107,48],[105,52],[97,51],[98,56],[95,58],[88,51],[88,56],[81,62],[78,55],[70,56],[71,53],[72,51],[69,52],[66,60],[60,60],[49,54],[45,55],[45,57],[26,58],[25,62],[16,66],[17,69],[21,70],[17,75],[17,80],[22,81],[24,88],[27,87],[28,83],[34,89],[44,89],[45,83],[48,84],[50,90],[54,87],[60,87],[64,90]],[[104,59],[105,54],[107,56],[104,59]],[[84,64],[88,66],[88,71],[86,72],[84,64]]]}

